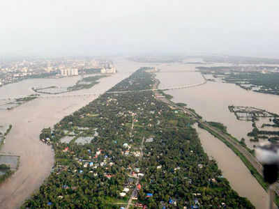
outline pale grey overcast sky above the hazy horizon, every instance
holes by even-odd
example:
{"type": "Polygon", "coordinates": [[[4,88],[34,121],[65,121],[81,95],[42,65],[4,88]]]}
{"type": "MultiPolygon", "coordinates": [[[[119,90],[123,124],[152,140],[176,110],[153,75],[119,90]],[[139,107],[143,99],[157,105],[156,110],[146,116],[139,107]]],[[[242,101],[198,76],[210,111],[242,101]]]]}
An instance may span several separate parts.
{"type": "Polygon", "coordinates": [[[1,0],[0,54],[279,58],[278,0],[1,0]]]}

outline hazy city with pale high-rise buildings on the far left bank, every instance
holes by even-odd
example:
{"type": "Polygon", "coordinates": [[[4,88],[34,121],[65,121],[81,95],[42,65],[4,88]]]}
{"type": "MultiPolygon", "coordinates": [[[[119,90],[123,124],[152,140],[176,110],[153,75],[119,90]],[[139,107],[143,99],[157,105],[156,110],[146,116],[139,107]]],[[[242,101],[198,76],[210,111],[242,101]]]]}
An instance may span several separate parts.
{"type": "Polygon", "coordinates": [[[89,57],[1,60],[0,86],[28,78],[74,76],[81,74],[82,69],[92,68],[99,68],[102,73],[116,72],[112,61],[89,57]]]}

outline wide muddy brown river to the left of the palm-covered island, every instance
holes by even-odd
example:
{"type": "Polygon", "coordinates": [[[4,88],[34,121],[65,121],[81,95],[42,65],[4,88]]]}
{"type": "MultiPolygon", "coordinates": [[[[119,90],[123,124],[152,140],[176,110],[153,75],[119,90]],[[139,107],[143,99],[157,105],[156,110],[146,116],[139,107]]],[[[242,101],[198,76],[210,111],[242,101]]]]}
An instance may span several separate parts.
{"type": "MultiPolygon", "coordinates": [[[[104,93],[140,67],[117,59],[119,73],[100,79],[100,83],[90,89],[74,93],[104,93]]],[[[0,88],[0,98],[18,97],[33,93],[33,86],[73,86],[79,77],[63,79],[28,79],[0,88]]],[[[70,93],[66,93],[70,94],[70,93]]],[[[63,94],[65,95],[65,94],[63,94]]],[[[67,98],[38,98],[26,102],[10,111],[0,111],[0,124],[12,124],[1,153],[20,155],[17,172],[0,187],[0,208],[19,208],[43,180],[50,174],[54,163],[54,153],[50,146],[40,142],[39,134],[43,127],[52,127],[64,116],[73,113],[96,98],[96,95],[67,98]]]]}

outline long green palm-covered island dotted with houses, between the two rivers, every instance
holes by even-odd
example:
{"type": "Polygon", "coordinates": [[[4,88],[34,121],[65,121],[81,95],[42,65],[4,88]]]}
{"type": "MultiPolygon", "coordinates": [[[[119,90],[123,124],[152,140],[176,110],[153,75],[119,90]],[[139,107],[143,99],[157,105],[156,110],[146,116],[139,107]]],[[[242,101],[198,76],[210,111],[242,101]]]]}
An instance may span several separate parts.
{"type": "Polygon", "coordinates": [[[194,121],[152,91],[139,91],[154,81],[137,70],[43,130],[56,162],[22,208],[121,208],[130,198],[130,208],[254,208],[204,153],[194,121]],[[66,136],[73,139],[62,143],[66,136]],[[91,142],[77,143],[82,137],[91,142]]]}

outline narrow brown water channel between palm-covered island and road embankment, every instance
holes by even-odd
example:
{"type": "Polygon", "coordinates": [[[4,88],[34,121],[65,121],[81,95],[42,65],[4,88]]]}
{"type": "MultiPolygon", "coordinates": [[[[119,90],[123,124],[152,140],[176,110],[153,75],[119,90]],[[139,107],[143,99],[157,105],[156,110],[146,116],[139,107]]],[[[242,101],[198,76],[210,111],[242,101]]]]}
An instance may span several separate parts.
{"type": "Polygon", "coordinates": [[[246,196],[256,208],[266,208],[267,194],[245,164],[222,141],[195,125],[204,151],[218,162],[223,176],[240,196],[246,196]]]}

